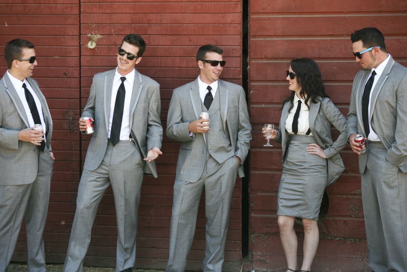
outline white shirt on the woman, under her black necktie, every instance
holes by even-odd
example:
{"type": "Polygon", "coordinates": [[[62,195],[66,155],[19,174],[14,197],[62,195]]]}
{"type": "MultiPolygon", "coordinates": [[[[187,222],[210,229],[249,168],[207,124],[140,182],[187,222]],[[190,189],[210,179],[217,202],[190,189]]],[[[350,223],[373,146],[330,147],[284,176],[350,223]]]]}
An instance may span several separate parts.
{"type": "MultiPolygon", "coordinates": [[[[304,97],[306,98],[306,96],[304,97]]],[[[294,134],[293,133],[293,119],[295,115],[295,111],[297,111],[297,106],[298,106],[298,101],[301,100],[301,108],[300,108],[300,115],[298,116],[298,132],[297,134],[299,135],[306,135],[308,129],[309,129],[309,110],[308,107],[305,105],[305,100],[304,98],[298,98],[297,95],[294,95],[294,100],[293,100],[293,108],[289,111],[287,119],[285,120],[285,129],[289,134],[294,134]]],[[[309,135],[312,135],[310,133],[309,135]]]]}

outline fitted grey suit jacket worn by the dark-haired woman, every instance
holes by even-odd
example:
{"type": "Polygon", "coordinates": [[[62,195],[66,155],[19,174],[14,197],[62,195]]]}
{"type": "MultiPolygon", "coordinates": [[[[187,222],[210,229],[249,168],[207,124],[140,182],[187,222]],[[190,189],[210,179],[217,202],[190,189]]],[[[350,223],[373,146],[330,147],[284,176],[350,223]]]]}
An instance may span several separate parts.
{"type": "MultiPolygon", "coordinates": [[[[289,149],[289,133],[285,130],[285,121],[288,117],[290,102],[284,104],[280,118],[280,130],[275,141],[282,145],[282,160],[289,149]],[[283,129],[281,131],[281,129],[283,129]]],[[[345,166],[339,151],[346,146],[346,119],[338,108],[327,98],[319,97],[317,103],[309,105],[309,128],[317,141],[317,144],[324,149],[328,164],[327,186],[333,184],[344,171],[345,166]],[[339,130],[338,139],[333,142],[330,133],[331,124],[339,130]]]]}

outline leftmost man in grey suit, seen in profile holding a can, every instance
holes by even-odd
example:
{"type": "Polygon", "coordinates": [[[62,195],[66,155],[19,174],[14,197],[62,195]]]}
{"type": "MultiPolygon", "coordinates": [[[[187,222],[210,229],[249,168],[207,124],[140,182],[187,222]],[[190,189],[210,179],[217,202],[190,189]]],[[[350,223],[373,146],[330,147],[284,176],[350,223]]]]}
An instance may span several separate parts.
{"type": "Polygon", "coordinates": [[[10,263],[23,217],[28,271],[44,272],[42,234],[55,159],[52,120],[45,97],[31,78],[37,66],[34,44],[11,40],[4,58],[8,70],[0,80],[0,272],[10,263]],[[35,124],[43,130],[34,130],[35,124]]]}

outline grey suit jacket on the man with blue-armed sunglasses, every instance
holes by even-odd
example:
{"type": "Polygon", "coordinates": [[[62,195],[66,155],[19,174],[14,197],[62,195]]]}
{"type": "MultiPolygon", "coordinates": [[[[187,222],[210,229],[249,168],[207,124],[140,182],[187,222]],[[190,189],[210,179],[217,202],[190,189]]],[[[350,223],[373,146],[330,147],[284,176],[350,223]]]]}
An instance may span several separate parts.
{"type": "MultiPolygon", "coordinates": [[[[353,80],[348,113],[347,136],[366,135],[362,119],[362,93],[368,71],[359,71],[353,80]]],[[[370,124],[387,149],[386,161],[407,172],[407,68],[393,57],[374,86],[370,102],[370,124]]],[[[365,136],[366,137],[366,136],[365,136]]],[[[369,151],[368,151],[369,152],[369,151]]],[[[368,152],[359,155],[359,171],[365,172],[368,152]]]]}

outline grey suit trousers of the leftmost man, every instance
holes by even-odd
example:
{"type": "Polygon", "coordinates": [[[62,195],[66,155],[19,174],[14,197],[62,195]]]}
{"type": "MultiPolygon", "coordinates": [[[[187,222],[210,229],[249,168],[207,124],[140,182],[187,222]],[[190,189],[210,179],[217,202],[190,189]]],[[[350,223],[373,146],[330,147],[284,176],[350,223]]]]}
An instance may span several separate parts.
{"type": "MultiPolygon", "coordinates": [[[[43,232],[46,223],[54,161],[46,147],[35,147],[38,173],[30,184],[0,185],[0,272],[7,270],[26,219],[28,272],[45,272],[43,232]]],[[[23,171],[24,169],[22,169],[23,171]]]]}

